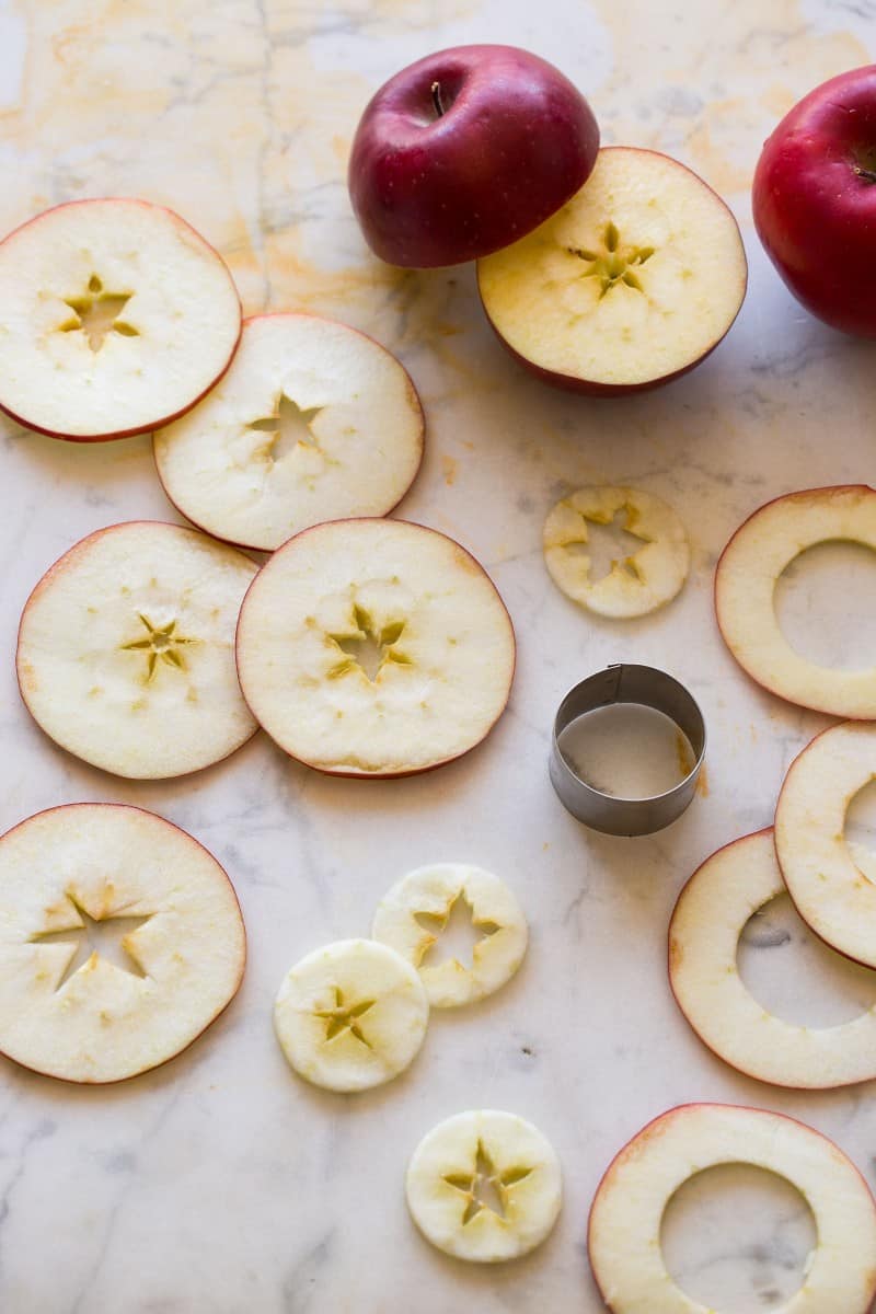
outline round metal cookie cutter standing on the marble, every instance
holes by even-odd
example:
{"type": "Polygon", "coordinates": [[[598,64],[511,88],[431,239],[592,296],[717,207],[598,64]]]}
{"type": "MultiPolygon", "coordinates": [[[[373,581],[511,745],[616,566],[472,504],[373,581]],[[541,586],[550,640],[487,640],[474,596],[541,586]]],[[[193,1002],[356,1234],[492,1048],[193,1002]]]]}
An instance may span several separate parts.
{"type": "Polygon", "coordinates": [[[617,662],[588,675],[570,689],[554,719],[550,746],[550,782],[563,807],[594,830],[605,834],[651,834],[670,825],[687,808],[705,757],[705,721],[695,698],[663,670],[617,662]],[[687,735],[696,761],[678,784],[665,794],[624,799],[603,794],[578,775],[563,757],[558,740],[578,716],[612,703],[640,703],[663,712],[687,735]]]}

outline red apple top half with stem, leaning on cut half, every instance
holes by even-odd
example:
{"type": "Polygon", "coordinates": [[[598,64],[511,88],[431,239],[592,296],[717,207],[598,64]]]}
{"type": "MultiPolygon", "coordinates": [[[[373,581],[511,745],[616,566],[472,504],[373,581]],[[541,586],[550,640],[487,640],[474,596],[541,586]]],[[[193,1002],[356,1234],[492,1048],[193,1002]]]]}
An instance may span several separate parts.
{"type": "Polygon", "coordinates": [[[461,264],[558,210],[598,148],[590,105],[553,64],[515,46],[457,46],[403,68],[372,97],[353,139],[349,198],[389,264],[461,264]]]}

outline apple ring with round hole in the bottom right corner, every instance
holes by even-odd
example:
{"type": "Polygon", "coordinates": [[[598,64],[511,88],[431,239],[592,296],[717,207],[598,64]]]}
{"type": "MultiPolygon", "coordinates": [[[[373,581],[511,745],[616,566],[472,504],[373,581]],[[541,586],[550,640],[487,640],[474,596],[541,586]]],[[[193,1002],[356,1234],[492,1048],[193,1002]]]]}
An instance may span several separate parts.
{"type": "Polygon", "coordinates": [[[724,1314],[675,1285],[661,1222],[680,1187],[707,1168],[751,1164],[808,1202],[817,1244],[804,1285],[775,1314],[867,1314],[876,1292],[876,1202],[854,1163],[821,1133],[780,1113],[688,1104],[650,1122],[599,1184],[587,1247],[613,1314],[724,1314]]]}

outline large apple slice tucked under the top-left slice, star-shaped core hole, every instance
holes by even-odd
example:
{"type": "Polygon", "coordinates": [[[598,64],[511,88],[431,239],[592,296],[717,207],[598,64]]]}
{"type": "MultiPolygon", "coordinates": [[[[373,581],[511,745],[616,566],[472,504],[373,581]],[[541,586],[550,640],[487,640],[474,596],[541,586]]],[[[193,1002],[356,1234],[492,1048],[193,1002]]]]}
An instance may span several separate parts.
{"type": "Polygon", "coordinates": [[[272,551],[299,530],[386,515],[423,457],[423,410],[372,338],[317,315],[257,315],[222,382],[155,435],[169,499],[208,533],[272,551]]]}

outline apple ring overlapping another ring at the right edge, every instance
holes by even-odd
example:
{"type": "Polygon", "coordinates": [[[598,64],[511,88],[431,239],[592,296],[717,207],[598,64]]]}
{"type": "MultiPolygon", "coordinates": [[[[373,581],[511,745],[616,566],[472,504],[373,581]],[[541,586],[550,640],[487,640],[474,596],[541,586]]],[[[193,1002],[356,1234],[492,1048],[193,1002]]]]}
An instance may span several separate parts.
{"type": "Polygon", "coordinates": [[[788,769],[775,816],[776,855],[802,920],[833,949],[876,967],[876,859],[844,838],[846,812],[876,778],[876,725],[817,735],[788,769]]]}

